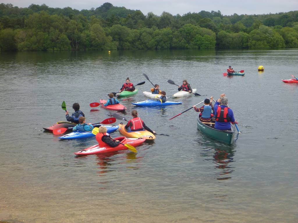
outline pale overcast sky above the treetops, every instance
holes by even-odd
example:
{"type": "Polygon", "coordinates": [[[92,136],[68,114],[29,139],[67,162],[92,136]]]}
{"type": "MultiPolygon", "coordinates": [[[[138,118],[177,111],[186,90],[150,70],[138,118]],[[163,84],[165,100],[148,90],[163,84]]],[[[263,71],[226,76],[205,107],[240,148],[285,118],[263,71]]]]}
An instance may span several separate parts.
{"type": "Polygon", "coordinates": [[[161,15],[163,11],[172,15],[183,15],[187,12],[218,11],[223,15],[241,14],[268,14],[298,10],[298,0],[5,0],[1,3],[10,3],[18,7],[28,7],[30,4],[46,4],[52,8],[71,7],[73,9],[90,10],[110,2],[114,6],[132,10],[141,10],[143,14],[153,12],[161,15]]]}

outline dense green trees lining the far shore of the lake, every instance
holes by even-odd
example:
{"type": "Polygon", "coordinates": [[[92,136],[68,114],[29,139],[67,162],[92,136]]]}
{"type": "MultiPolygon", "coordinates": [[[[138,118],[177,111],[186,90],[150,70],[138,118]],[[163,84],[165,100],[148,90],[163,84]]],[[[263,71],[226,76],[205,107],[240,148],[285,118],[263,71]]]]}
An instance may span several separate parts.
{"type": "Polygon", "coordinates": [[[0,4],[0,50],[298,48],[298,11],[184,15],[115,7],[91,10],[0,4]]]}

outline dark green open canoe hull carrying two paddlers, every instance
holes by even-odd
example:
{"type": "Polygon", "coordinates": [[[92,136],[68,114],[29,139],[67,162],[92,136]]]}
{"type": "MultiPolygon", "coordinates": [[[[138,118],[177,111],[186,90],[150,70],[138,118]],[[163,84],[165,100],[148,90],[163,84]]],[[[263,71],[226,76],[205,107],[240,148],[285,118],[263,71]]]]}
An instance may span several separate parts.
{"type": "Polygon", "coordinates": [[[211,128],[208,125],[205,125],[201,122],[199,118],[197,118],[197,128],[200,130],[203,134],[206,136],[209,136],[213,139],[225,142],[227,144],[233,144],[234,143],[234,137],[235,137],[235,128],[231,124],[232,131],[222,131],[215,128],[211,128]]]}

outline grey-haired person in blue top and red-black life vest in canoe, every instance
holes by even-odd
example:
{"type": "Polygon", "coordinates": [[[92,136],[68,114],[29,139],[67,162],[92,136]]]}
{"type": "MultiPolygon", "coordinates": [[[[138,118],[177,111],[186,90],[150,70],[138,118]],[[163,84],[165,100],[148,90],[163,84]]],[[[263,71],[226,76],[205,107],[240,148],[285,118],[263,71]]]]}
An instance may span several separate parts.
{"type": "Polygon", "coordinates": [[[218,130],[231,130],[230,122],[235,123],[233,111],[228,107],[228,98],[225,96],[225,94],[221,94],[214,105],[214,116],[216,118],[214,128],[218,130]]]}

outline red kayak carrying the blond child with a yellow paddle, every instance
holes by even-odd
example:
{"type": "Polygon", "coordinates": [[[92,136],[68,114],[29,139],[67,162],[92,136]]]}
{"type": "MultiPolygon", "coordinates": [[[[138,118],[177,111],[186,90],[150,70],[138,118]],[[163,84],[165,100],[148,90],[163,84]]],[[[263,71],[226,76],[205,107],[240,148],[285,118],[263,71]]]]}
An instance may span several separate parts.
{"type": "MultiPolygon", "coordinates": [[[[114,138],[115,140],[119,140],[123,144],[128,143],[134,147],[141,145],[146,139],[145,138],[126,138],[124,136],[120,136],[114,138]]],[[[128,148],[122,144],[117,145],[116,147],[100,147],[99,145],[91,146],[87,149],[81,150],[76,152],[76,155],[91,155],[91,154],[98,154],[98,153],[109,153],[115,152],[118,150],[128,150],[128,148]]]]}

